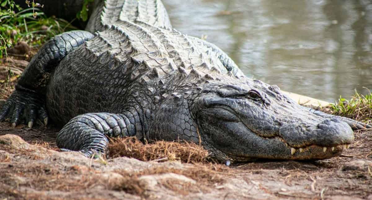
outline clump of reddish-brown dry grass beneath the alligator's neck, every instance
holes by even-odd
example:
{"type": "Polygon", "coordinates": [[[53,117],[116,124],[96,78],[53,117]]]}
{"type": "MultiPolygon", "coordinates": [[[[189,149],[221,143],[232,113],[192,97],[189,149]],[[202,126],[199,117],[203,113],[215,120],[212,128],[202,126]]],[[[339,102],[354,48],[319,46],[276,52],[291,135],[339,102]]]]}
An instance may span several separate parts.
{"type": "Polygon", "coordinates": [[[206,162],[208,151],[191,142],[157,141],[146,143],[135,137],[113,138],[109,144],[109,157],[129,157],[141,161],[181,161],[183,163],[206,162]]]}

